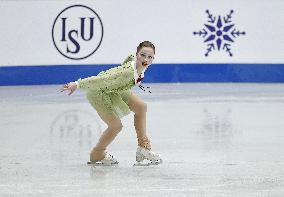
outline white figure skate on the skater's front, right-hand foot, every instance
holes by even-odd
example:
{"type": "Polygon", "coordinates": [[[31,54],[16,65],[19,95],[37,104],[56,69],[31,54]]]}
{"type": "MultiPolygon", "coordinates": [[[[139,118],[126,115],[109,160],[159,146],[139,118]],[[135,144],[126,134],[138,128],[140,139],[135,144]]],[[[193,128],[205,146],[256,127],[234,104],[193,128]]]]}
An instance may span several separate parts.
{"type": "Polygon", "coordinates": [[[150,166],[162,163],[161,155],[140,146],[138,146],[136,151],[136,161],[137,163],[134,166],[150,166]],[[143,162],[144,160],[148,161],[145,163],[143,162]]]}

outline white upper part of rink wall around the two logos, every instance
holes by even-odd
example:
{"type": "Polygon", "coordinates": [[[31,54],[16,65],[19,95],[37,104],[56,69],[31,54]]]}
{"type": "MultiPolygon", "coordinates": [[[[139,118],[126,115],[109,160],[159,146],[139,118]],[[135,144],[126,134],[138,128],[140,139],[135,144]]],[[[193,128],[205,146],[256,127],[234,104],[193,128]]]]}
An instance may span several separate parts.
{"type": "Polygon", "coordinates": [[[62,56],[52,41],[52,25],[66,7],[82,4],[100,16],[104,36],[101,46],[79,64],[120,63],[135,52],[142,40],[157,46],[157,63],[283,63],[284,1],[282,0],[98,0],[98,1],[1,1],[0,65],[74,64],[62,56]],[[205,10],[225,16],[245,31],[232,44],[233,57],[213,51],[193,32],[207,21],[205,10]]]}

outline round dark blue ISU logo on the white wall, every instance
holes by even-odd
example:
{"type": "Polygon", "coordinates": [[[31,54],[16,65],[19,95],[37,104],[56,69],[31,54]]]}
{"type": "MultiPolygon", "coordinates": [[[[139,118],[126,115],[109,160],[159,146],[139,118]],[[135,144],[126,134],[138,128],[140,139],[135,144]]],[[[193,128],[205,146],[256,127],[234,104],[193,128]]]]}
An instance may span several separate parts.
{"type": "Polygon", "coordinates": [[[72,5],[55,18],[52,39],[55,48],[64,57],[85,59],[101,45],[103,23],[93,9],[85,5],[72,5]]]}

